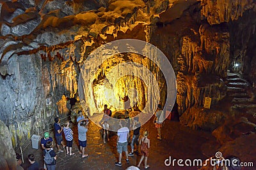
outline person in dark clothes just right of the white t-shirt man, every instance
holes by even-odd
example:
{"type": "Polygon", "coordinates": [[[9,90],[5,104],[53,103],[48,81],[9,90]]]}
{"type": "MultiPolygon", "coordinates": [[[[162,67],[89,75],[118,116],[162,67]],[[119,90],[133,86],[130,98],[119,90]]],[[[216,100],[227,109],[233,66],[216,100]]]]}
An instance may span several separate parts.
{"type": "Polygon", "coordinates": [[[140,127],[141,124],[139,122],[139,117],[134,117],[134,124],[132,129],[134,129],[133,131],[133,136],[132,136],[132,141],[131,141],[131,153],[128,154],[129,157],[134,156],[134,146],[136,144],[137,146],[137,151],[136,153],[138,154],[138,146],[139,146],[139,137],[140,137],[140,127]],[[135,129],[136,128],[136,129],[135,129]]]}

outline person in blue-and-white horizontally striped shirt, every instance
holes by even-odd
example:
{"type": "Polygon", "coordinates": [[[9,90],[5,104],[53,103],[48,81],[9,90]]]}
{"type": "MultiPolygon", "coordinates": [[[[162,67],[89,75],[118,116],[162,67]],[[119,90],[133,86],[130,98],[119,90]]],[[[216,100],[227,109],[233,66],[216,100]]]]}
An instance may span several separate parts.
{"type": "Polygon", "coordinates": [[[70,156],[75,155],[75,153],[72,153],[72,144],[73,144],[73,131],[69,128],[69,122],[66,122],[65,127],[63,127],[63,131],[65,134],[65,138],[67,140],[67,155],[70,156]]]}

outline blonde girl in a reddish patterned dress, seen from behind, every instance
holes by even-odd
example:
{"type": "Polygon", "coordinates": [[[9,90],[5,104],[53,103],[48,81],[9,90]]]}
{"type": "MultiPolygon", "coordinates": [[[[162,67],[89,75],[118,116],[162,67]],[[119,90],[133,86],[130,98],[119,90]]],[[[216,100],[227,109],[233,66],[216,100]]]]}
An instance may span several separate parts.
{"type": "Polygon", "coordinates": [[[150,140],[148,139],[148,131],[144,131],[143,132],[143,136],[141,139],[140,139],[140,145],[141,145],[141,153],[142,153],[142,156],[141,156],[141,159],[140,159],[140,162],[138,164],[138,167],[140,167],[140,164],[142,162],[142,160],[144,159],[145,157],[145,160],[144,160],[144,167],[145,169],[147,169],[149,166],[147,164],[147,160],[148,160],[148,148],[150,147],[150,140]]]}

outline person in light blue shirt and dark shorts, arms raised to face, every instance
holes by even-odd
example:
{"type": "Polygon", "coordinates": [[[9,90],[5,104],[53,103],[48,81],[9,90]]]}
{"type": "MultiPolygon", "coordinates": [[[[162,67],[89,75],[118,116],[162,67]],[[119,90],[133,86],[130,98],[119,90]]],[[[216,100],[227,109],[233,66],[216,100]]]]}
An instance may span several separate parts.
{"type": "Polygon", "coordinates": [[[88,131],[89,120],[81,119],[78,121],[77,129],[78,129],[78,142],[80,147],[80,153],[82,154],[82,158],[88,157],[88,154],[84,154],[84,149],[87,146],[86,132],[88,131]]]}

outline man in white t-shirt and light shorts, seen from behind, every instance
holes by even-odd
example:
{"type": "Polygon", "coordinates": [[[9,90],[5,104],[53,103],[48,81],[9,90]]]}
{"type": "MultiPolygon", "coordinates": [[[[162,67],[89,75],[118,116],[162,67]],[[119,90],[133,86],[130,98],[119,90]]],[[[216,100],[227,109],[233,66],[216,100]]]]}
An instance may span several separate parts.
{"type": "Polygon", "coordinates": [[[115,162],[116,166],[122,166],[122,152],[125,152],[125,156],[126,156],[126,162],[129,163],[129,159],[128,159],[128,150],[127,150],[127,146],[128,146],[128,141],[127,139],[130,137],[129,136],[129,129],[126,126],[126,122],[123,120],[120,120],[119,122],[120,125],[120,129],[118,129],[117,131],[117,140],[116,140],[116,147],[117,147],[117,152],[119,153],[119,158],[118,158],[118,162],[115,162]]]}

